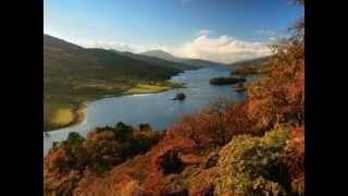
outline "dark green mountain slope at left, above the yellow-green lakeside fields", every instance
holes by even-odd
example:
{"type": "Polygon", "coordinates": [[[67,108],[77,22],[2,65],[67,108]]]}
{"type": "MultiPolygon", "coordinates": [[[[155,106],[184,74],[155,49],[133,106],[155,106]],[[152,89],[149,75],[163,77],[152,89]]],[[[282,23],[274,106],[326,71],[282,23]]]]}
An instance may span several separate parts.
{"type": "MultiPolygon", "coordinates": [[[[44,34],[44,76],[165,79],[185,70],[159,62],[139,61],[104,49],[87,49],[44,34]]],[[[187,68],[188,69],[188,68],[187,68]]]]}

